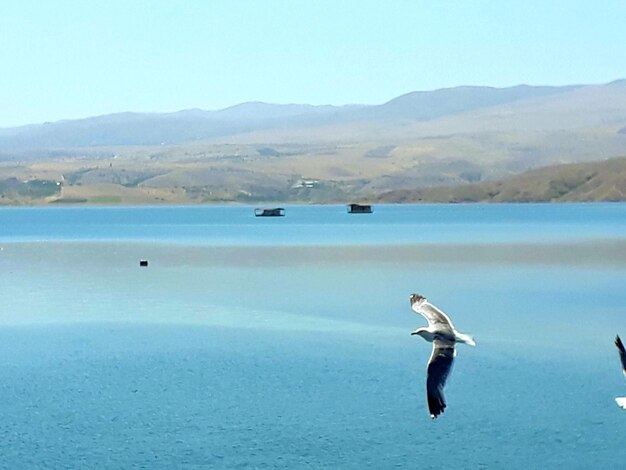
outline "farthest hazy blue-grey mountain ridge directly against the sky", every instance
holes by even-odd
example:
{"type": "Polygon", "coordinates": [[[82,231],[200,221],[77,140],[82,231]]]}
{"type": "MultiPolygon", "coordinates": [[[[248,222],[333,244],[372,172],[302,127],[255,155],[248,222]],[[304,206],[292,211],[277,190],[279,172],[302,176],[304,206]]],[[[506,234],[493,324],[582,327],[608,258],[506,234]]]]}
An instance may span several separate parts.
{"type": "MultiPolygon", "coordinates": [[[[581,88],[585,87],[457,87],[408,93],[375,106],[250,102],[219,111],[123,112],[0,129],[0,151],[184,144],[277,129],[319,128],[358,122],[429,121],[527,100],[566,97],[581,88]]],[[[454,129],[448,132],[454,132],[454,129]]]]}

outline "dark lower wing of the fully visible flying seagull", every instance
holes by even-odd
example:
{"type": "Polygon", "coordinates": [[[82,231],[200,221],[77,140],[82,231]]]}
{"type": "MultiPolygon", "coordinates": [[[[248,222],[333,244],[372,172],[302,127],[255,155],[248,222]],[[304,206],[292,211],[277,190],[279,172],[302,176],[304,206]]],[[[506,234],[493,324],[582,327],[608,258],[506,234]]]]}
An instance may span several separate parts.
{"type": "Polygon", "coordinates": [[[433,419],[443,413],[446,407],[443,387],[452,370],[454,354],[454,343],[440,339],[433,341],[433,352],[428,360],[426,370],[426,396],[428,398],[428,410],[433,419]]]}

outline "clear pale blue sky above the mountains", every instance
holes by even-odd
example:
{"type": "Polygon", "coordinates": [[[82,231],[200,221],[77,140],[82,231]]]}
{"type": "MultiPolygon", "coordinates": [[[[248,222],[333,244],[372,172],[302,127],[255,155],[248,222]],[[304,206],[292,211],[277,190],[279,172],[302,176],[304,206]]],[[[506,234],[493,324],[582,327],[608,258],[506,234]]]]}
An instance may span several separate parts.
{"type": "Polygon", "coordinates": [[[0,127],[626,77],[624,0],[0,0],[0,127]]]}

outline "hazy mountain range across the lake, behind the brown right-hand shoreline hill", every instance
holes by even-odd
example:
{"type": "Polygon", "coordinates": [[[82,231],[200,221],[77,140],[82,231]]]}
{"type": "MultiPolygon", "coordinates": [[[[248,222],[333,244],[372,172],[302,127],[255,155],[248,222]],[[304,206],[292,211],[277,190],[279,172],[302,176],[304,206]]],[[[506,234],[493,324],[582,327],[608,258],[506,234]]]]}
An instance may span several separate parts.
{"type": "Polygon", "coordinates": [[[380,105],[250,102],[4,128],[0,182],[47,181],[36,194],[90,203],[342,202],[625,155],[626,80],[463,86],[380,105]]]}

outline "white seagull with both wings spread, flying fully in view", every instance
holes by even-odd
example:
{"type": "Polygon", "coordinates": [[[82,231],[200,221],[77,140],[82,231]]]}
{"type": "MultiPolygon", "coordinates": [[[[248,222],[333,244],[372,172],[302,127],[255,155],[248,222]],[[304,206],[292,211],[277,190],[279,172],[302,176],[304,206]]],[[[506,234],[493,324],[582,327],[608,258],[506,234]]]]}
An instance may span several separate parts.
{"type": "Polygon", "coordinates": [[[452,362],[456,351],[456,343],[465,343],[476,346],[474,338],[454,329],[450,318],[419,294],[411,294],[411,308],[415,313],[423,315],[428,320],[428,326],[418,328],[411,335],[418,335],[433,343],[433,352],[428,359],[426,369],[426,396],[430,417],[435,419],[443,413],[446,399],[443,396],[443,387],[452,369],[452,362]]]}

